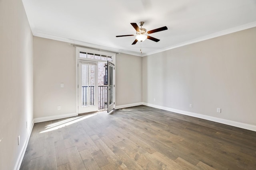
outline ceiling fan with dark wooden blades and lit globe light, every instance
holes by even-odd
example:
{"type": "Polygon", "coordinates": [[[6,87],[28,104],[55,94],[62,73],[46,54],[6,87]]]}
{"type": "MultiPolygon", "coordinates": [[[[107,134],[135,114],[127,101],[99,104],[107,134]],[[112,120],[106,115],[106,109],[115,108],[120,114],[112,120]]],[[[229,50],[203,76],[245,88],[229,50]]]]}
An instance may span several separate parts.
{"type": "Polygon", "coordinates": [[[150,31],[147,31],[145,28],[142,28],[142,25],[144,24],[143,21],[140,21],[139,24],[140,24],[140,28],[137,25],[137,23],[131,23],[131,25],[136,30],[136,34],[134,34],[134,35],[117,35],[116,37],[136,36],[136,39],[132,43],[132,45],[136,44],[138,41],[142,42],[145,39],[150,39],[152,41],[158,42],[158,41],[160,41],[160,39],[150,37],[148,34],[156,33],[156,32],[159,32],[159,31],[164,31],[164,30],[168,29],[166,26],[164,26],[164,27],[160,27],[160,28],[157,28],[157,29],[152,29],[150,31]]]}

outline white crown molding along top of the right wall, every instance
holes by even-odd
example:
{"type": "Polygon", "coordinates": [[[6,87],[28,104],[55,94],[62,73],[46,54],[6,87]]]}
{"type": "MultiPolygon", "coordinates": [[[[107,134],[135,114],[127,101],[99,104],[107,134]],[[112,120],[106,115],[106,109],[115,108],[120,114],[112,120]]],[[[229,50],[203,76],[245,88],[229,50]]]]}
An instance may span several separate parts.
{"type": "Polygon", "coordinates": [[[152,51],[152,52],[149,52],[149,53],[144,53],[142,55],[142,57],[147,56],[147,55],[160,53],[160,52],[167,51],[167,50],[170,50],[170,49],[175,49],[175,48],[182,47],[182,46],[189,45],[189,44],[193,44],[193,43],[198,43],[200,41],[204,41],[204,40],[207,40],[207,39],[220,37],[222,35],[227,35],[227,34],[230,34],[230,33],[242,31],[244,29],[249,29],[249,28],[252,28],[252,27],[256,27],[256,21],[251,22],[251,23],[247,23],[247,24],[244,24],[244,25],[240,25],[238,27],[234,27],[234,28],[226,29],[226,30],[219,31],[219,32],[216,32],[216,33],[212,33],[212,34],[209,34],[209,35],[205,35],[203,37],[199,37],[199,38],[196,38],[196,39],[185,41],[185,42],[182,42],[182,43],[179,43],[179,44],[175,44],[175,45],[163,48],[163,49],[159,49],[159,50],[152,51]]]}

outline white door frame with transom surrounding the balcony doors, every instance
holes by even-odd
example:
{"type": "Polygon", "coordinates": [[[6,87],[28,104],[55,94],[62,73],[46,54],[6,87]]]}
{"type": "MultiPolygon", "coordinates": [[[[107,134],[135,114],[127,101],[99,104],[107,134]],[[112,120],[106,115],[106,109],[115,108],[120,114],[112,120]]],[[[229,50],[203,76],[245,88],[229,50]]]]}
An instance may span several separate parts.
{"type": "MultiPolygon", "coordinates": [[[[117,53],[112,53],[112,52],[106,52],[106,51],[100,51],[100,49],[89,49],[86,47],[78,47],[76,46],[76,113],[78,115],[78,60],[86,60],[86,61],[98,61],[98,62],[106,62],[104,60],[97,60],[97,59],[88,59],[88,58],[81,58],[79,56],[80,52],[85,52],[85,53],[94,53],[94,54],[100,54],[100,55],[107,55],[107,56],[112,56],[112,63],[115,64],[116,66],[116,54],[117,53]]],[[[114,84],[116,84],[116,71],[114,72],[114,84]]],[[[116,86],[114,88],[114,98],[116,99],[116,86]]]]}

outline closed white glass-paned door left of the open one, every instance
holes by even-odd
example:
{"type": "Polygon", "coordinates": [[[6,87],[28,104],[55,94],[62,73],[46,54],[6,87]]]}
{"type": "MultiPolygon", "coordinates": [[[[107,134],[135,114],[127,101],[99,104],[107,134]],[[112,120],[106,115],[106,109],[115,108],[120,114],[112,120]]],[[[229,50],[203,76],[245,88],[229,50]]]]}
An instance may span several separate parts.
{"type": "Polygon", "coordinates": [[[98,63],[78,60],[78,114],[98,111],[98,63]]]}

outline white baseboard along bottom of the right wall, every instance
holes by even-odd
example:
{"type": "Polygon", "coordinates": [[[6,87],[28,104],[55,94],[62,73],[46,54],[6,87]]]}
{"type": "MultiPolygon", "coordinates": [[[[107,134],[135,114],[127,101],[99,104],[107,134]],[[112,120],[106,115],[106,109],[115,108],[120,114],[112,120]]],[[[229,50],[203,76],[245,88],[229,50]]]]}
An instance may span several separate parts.
{"type": "Polygon", "coordinates": [[[158,105],[148,104],[148,103],[144,103],[144,102],[142,102],[142,104],[145,105],[145,106],[150,106],[150,107],[154,107],[154,108],[158,108],[158,109],[163,109],[163,110],[166,110],[166,111],[172,111],[172,112],[175,112],[175,113],[180,113],[182,115],[188,115],[188,116],[197,117],[197,118],[200,118],[200,119],[214,121],[214,122],[217,122],[217,123],[222,123],[222,124],[225,124],[225,125],[240,127],[242,129],[247,129],[247,130],[250,130],[250,131],[256,131],[256,126],[255,125],[250,125],[250,124],[241,123],[241,122],[237,122],[237,121],[222,119],[222,118],[218,118],[218,117],[212,117],[212,116],[208,116],[208,115],[202,115],[202,114],[198,114],[198,113],[192,113],[192,112],[189,112],[189,111],[184,111],[184,110],[179,110],[179,109],[172,109],[170,107],[158,106],[158,105]]]}

